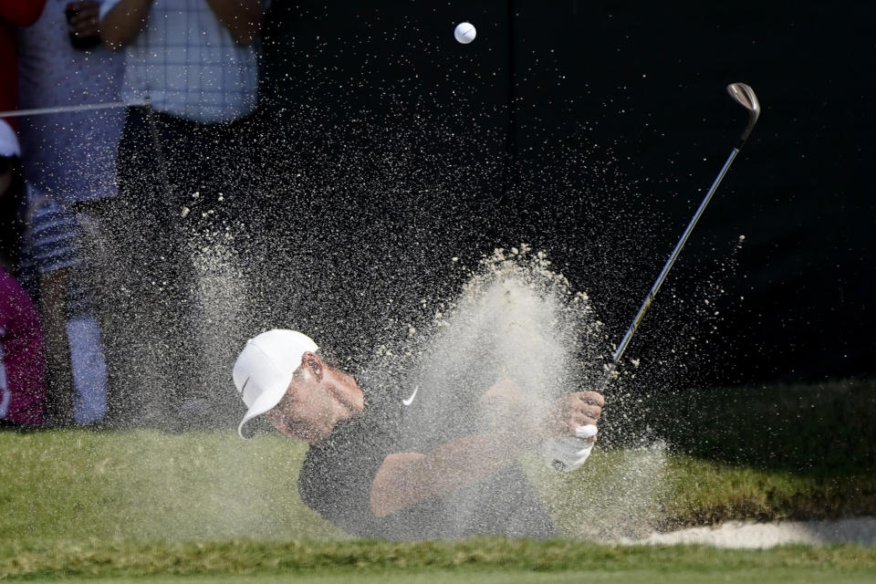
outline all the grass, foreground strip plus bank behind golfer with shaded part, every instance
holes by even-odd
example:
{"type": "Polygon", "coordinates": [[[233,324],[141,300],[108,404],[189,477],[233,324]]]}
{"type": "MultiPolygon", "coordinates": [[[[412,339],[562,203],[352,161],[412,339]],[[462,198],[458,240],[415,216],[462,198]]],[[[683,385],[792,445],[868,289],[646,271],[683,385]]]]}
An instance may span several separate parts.
{"type": "Polygon", "coordinates": [[[874,581],[872,547],[586,542],[731,518],[876,515],[873,395],[871,381],[704,392],[674,406],[702,424],[661,426],[645,412],[662,436],[647,448],[614,441],[571,474],[525,456],[565,537],[550,542],[350,539],[300,502],[306,446],[278,435],[0,432],[0,579],[874,581]]]}

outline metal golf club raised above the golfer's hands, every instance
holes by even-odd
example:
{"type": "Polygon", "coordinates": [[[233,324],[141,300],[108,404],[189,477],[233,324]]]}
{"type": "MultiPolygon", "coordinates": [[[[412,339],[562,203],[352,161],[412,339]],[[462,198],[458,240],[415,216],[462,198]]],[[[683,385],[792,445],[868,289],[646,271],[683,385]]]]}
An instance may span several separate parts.
{"type": "Polygon", "coordinates": [[[652,286],[651,291],[648,293],[648,296],[646,296],[644,301],[641,303],[641,308],[639,308],[639,312],[636,314],[636,318],[632,319],[630,328],[627,328],[627,332],[623,336],[623,339],[620,340],[620,345],[618,345],[618,349],[615,350],[614,353],[611,355],[612,363],[617,363],[623,356],[623,352],[627,349],[627,347],[630,346],[630,341],[632,340],[633,335],[636,333],[636,330],[641,324],[641,318],[645,316],[645,312],[648,310],[649,307],[651,307],[651,303],[654,301],[654,297],[657,296],[657,291],[660,290],[660,287],[663,284],[663,280],[666,279],[666,276],[669,274],[669,270],[672,269],[675,260],[678,259],[678,255],[681,254],[684,244],[687,243],[687,238],[694,230],[694,225],[697,221],[699,221],[700,216],[705,211],[706,205],[709,204],[709,201],[712,200],[712,195],[714,195],[714,192],[718,189],[718,185],[721,184],[721,181],[724,180],[724,175],[730,169],[730,165],[733,163],[736,154],[738,154],[739,151],[742,150],[742,147],[745,146],[746,140],[748,140],[748,136],[751,134],[751,130],[754,129],[755,124],[757,123],[757,118],[760,117],[760,103],[757,101],[757,96],[755,95],[754,89],[751,89],[745,83],[731,83],[727,86],[727,93],[730,94],[730,97],[733,98],[736,103],[748,110],[748,124],[746,125],[746,130],[743,131],[742,135],[739,136],[739,141],[736,143],[733,151],[730,152],[730,156],[727,158],[727,162],[724,163],[724,167],[721,169],[721,172],[718,172],[717,178],[714,179],[714,183],[712,183],[712,188],[710,188],[709,192],[705,194],[703,203],[700,203],[700,208],[696,210],[694,218],[691,220],[691,223],[687,225],[687,229],[684,230],[684,234],[682,235],[682,238],[678,241],[678,244],[675,245],[673,254],[669,256],[669,260],[667,260],[666,265],[663,266],[660,276],[657,277],[657,281],[654,282],[654,285],[652,286]]]}

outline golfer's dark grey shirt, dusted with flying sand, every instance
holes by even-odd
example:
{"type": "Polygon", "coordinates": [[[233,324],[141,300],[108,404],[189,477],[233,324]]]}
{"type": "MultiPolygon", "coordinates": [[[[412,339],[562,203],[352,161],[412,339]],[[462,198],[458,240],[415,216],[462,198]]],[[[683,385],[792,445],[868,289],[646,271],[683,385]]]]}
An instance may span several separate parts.
{"type": "MultiPolygon", "coordinates": [[[[385,517],[370,511],[374,476],[388,454],[405,452],[398,386],[362,377],[365,409],[313,444],[298,476],[301,499],[358,537],[447,539],[475,535],[551,537],[555,528],[518,464],[440,498],[385,517]]],[[[410,424],[406,424],[411,427],[410,424]]]]}

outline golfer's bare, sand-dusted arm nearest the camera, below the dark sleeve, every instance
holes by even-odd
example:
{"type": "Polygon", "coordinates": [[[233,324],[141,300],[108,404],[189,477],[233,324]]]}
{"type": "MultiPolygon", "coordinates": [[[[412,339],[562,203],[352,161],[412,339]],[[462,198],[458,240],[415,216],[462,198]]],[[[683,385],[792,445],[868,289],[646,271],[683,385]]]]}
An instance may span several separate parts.
{"type": "Polygon", "coordinates": [[[514,462],[520,447],[507,433],[485,433],[443,444],[427,454],[390,454],[371,484],[371,512],[388,516],[482,481],[514,462]]]}

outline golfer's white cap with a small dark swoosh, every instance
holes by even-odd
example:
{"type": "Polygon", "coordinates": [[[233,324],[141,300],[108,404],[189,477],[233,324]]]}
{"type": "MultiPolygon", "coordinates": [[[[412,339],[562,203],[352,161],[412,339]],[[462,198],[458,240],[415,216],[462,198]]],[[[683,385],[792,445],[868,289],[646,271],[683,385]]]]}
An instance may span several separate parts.
{"type": "Polygon", "coordinates": [[[301,358],[317,349],[317,343],[307,335],[282,328],[268,330],[246,341],[232,374],[237,391],[249,408],[237,426],[241,438],[245,438],[244,424],[271,411],[283,399],[295,370],[301,365],[301,358]]]}

